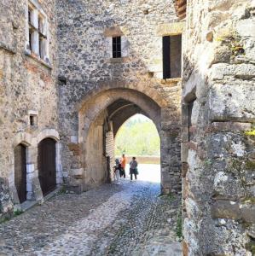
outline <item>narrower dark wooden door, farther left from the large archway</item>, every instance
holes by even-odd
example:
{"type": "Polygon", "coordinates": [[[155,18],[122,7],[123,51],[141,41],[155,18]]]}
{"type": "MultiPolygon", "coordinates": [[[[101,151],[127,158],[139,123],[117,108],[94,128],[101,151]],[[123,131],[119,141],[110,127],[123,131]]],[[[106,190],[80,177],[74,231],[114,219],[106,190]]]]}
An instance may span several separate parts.
{"type": "Polygon", "coordinates": [[[20,203],[26,201],[26,147],[22,144],[14,148],[14,183],[20,203]]]}

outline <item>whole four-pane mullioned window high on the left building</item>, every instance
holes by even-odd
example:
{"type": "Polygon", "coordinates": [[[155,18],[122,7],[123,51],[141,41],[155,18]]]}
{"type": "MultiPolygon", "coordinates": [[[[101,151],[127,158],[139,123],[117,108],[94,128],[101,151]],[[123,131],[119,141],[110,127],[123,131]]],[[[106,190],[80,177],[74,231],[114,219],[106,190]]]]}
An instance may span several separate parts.
{"type": "Polygon", "coordinates": [[[49,62],[49,40],[47,18],[38,3],[31,0],[27,7],[27,43],[28,54],[35,54],[49,62]]]}

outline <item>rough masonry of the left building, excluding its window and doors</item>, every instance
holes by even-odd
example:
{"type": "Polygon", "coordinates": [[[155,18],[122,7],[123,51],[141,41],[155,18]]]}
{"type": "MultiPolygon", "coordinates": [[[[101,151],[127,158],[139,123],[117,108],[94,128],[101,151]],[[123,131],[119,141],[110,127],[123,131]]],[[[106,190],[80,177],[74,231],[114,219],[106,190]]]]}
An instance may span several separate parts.
{"type": "Polygon", "coordinates": [[[31,192],[28,197],[31,199],[41,196],[35,195],[40,189],[37,182],[38,135],[45,128],[57,130],[58,127],[55,1],[40,3],[49,20],[51,67],[38,61],[35,55],[25,55],[27,1],[3,0],[0,3],[0,177],[8,180],[15,194],[14,147],[24,143],[31,192]],[[38,124],[33,127],[29,125],[30,113],[38,114],[38,124]]]}

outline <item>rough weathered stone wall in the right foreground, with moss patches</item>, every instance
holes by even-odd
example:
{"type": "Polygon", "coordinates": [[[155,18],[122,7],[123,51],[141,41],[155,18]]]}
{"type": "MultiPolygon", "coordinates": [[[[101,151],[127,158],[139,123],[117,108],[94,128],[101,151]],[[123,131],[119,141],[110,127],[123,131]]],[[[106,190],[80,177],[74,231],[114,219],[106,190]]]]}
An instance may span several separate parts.
{"type": "Polygon", "coordinates": [[[254,1],[188,1],[184,255],[254,255],[254,14],[254,1]]]}

